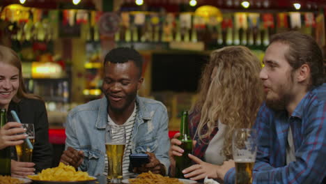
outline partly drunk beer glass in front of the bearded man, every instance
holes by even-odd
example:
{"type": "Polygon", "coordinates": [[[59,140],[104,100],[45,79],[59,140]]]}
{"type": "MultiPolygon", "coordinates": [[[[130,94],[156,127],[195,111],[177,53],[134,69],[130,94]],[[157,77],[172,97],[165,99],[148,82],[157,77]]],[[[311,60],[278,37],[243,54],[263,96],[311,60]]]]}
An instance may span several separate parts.
{"type": "Polygon", "coordinates": [[[235,161],[235,183],[251,184],[252,169],[256,161],[257,132],[250,128],[235,130],[232,139],[235,161]]]}

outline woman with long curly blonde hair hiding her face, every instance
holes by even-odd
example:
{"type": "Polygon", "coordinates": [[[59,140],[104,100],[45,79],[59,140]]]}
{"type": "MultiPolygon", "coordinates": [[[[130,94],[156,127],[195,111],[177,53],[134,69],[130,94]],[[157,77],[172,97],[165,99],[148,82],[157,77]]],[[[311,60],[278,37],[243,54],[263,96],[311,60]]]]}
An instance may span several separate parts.
{"type": "MultiPolygon", "coordinates": [[[[263,102],[259,72],[261,61],[243,46],[217,49],[210,55],[199,82],[199,98],[190,109],[189,128],[194,140],[196,164],[183,170],[185,178],[217,178],[217,169],[232,159],[232,133],[236,128],[251,128],[263,102]]],[[[171,175],[175,156],[183,154],[176,134],[171,139],[171,175]]]]}

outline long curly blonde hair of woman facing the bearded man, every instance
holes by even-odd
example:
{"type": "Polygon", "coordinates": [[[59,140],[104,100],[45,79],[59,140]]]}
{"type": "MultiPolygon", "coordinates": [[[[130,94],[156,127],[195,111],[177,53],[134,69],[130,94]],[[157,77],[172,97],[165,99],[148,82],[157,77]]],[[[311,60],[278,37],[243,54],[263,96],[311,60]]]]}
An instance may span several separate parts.
{"type": "Polygon", "coordinates": [[[235,128],[251,128],[263,102],[260,71],[259,59],[243,46],[213,51],[203,70],[199,97],[190,112],[201,112],[196,130],[199,141],[211,134],[218,121],[226,125],[222,149],[226,158],[232,158],[233,131],[235,128]],[[205,125],[207,131],[203,131],[205,125]]]}

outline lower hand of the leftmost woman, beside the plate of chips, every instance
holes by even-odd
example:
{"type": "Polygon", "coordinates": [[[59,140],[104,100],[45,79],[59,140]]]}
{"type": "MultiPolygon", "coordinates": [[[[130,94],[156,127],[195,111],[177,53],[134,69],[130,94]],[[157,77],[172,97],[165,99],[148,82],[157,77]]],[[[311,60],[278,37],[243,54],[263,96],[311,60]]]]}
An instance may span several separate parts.
{"type": "Polygon", "coordinates": [[[35,174],[35,164],[33,162],[17,162],[11,160],[11,176],[18,178],[26,178],[28,175],[35,174]]]}

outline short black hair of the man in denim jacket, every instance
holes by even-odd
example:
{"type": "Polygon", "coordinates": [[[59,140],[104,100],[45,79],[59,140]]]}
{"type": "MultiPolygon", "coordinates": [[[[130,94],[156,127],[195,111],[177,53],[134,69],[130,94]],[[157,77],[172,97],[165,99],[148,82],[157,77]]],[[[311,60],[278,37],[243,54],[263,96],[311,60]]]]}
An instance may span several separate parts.
{"type": "Polygon", "coordinates": [[[127,61],[133,61],[137,68],[139,68],[139,75],[143,68],[143,59],[141,54],[137,50],[129,47],[118,47],[111,49],[104,58],[104,65],[107,62],[111,63],[126,63],[127,61]]]}

